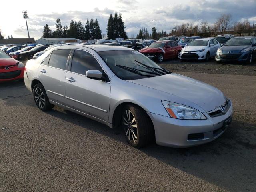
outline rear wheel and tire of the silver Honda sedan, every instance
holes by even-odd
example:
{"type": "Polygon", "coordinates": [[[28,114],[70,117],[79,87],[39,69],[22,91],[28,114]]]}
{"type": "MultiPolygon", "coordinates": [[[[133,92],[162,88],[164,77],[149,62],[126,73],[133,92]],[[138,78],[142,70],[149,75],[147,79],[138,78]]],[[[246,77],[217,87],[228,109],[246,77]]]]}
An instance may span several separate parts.
{"type": "Polygon", "coordinates": [[[33,97],[36,106],[42,111],[51,110],[54,107],[54,105],[49,102],[44,86],[41,83],[34,86],[33,97]]]}

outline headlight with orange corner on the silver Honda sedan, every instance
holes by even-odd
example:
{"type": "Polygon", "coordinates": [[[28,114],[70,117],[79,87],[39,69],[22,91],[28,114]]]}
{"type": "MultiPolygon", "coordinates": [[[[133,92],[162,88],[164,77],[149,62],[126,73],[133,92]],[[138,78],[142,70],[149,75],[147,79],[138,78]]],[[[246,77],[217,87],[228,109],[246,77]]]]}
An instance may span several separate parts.
{"type": "Polygon", "coordinates": [[[172,118],[189,120],[206,119],[204,114],[194,108],[169,101],[162,101],[162,104],[172,118]]]}

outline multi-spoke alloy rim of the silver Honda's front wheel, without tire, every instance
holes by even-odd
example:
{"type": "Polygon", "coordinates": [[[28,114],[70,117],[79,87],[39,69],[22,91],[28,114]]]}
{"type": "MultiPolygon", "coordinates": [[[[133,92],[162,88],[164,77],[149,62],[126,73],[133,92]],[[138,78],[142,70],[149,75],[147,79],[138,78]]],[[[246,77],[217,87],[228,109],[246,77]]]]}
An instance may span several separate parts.
{"type": "Polygon", "coordinates": [[[136,142],[138,132],[137,132],[137,123],[134,115],[130,110],[125,110],[123,115],[123,126],[125,134],[130,142],[136,142]]]}

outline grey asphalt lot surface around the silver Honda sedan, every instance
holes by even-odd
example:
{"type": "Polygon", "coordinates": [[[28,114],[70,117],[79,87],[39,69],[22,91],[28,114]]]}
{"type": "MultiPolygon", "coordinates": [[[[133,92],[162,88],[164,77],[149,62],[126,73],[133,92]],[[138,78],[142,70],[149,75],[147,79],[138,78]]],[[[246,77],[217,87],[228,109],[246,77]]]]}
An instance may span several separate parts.
{"type": "Polygon", "coordinates": [[[56,106],[42,112],[24,82],[6,82],[0,84],[0,127],[6,128],[0,191],[256,191],[256,66],[236,73],[236,65],[170,63],[161,65],[231,98],[233,122],[220,138],[186,149],[132,148],[122,130],[56,106]]]}

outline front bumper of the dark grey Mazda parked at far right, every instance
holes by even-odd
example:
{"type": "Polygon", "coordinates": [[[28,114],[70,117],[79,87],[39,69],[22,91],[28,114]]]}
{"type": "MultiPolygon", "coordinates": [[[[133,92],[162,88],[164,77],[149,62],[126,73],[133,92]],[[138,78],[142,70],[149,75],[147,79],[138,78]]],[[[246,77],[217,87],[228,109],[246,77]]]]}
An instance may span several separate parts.
{"type": "Polygon", "coordinates": [[[216,61],[247,61],[250,57],[250,51],[237,54],[222,54],[216,52],[216,61]]]}

